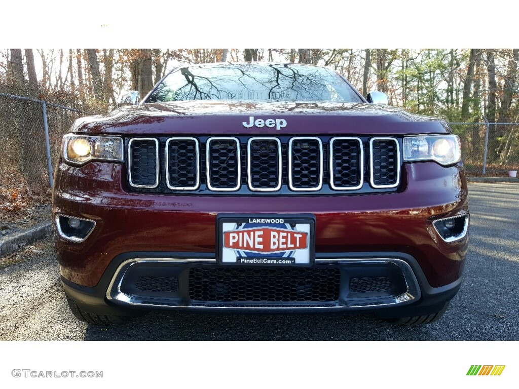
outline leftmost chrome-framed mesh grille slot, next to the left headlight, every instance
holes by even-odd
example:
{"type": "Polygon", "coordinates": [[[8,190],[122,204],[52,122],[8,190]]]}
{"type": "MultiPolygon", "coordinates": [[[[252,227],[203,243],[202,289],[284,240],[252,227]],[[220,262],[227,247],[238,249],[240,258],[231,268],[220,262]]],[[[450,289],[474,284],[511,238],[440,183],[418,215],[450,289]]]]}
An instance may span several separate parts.
{"type": "Polygon", "coordinates": [[[130,184],[153,187],[157,182],[157,143],[134,139],[130,143],[130,184]]]}

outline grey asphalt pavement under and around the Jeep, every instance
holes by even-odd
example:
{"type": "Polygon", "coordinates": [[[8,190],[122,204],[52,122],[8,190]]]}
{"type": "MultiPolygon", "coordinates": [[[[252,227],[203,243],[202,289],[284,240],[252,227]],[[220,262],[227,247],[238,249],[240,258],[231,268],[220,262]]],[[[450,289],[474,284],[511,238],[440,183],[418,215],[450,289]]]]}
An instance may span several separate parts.
{"type": "Polygon", "coordinates": [[[51,238],[0,258],[0,340],[519,340],[519,183],[472,183],[461,289],[439,322],[396,327],[368,314],[149,313],[78,322],[51,238]]]}

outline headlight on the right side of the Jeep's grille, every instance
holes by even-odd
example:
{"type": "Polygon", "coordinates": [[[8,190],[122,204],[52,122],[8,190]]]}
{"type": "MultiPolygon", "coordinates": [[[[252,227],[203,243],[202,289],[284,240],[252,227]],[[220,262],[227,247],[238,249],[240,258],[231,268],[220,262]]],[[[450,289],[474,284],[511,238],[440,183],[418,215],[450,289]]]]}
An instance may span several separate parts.
{"type": "Polygon", "coordinates": [[[404,137],[404,161],[436,161],[451,165],[461,160],[457,135],[419,135],[404,137]]]}

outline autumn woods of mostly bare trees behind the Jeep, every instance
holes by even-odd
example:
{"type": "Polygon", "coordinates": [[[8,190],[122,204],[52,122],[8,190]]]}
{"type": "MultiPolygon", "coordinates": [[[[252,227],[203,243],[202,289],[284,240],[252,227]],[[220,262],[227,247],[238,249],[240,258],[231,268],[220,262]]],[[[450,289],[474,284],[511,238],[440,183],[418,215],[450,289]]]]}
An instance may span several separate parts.
{"type": "MultiPolygon", "coordinates": [[[[471,123],[451,126],[469,174],[482,173],[485,141],[488,172],[519,168],[519,125],[512,125],[519,118],[519,49],[0,49],[0,93],[80,111],[47,106],[55,160],[73,120],[114,109],[122,93],[144,96],[175,66],[241,61],[328,66],[364,96],[385,92],[390,105],[409,112],[471,123]]],[[[18,193],[33,195],[45,182],[48,188],[42,129],[41,104],[0,96],[4,210],[13,209],[18,193]]]]}

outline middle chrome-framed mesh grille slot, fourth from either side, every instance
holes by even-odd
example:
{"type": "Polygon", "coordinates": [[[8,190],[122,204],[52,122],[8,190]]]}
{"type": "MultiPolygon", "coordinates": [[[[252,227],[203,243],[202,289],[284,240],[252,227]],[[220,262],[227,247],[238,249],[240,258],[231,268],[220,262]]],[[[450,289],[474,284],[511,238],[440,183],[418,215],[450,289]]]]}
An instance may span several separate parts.
{"type": "Polygon", "coordinates": [[[249,186],[275,189],[280,183],[280,143],[273,139],[254,139],[249,146],[249,186]]]}

